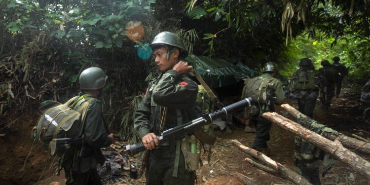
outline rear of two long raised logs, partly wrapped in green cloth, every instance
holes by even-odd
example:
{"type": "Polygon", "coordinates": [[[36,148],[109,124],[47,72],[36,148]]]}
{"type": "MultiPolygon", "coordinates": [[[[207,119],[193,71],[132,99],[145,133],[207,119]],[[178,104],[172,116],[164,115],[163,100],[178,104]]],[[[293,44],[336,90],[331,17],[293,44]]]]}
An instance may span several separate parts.
{"type": "MultiPolygon", "coordinates": [[[[302,126],[307,127],[310,123],[314,122],[315,120],[302,114],[294,107],[290,106],[289,104],[283,104],[281,107],[289,112],[294,118],[297,119],[296,122],[302,123],[302,126]]],[[[342,145],[346,148],[351,148],[358,152],[370,155],[370,144],[362,142],[360,140],[345,136],[344,134],[339,133],[339,135],[335,134],[328,134],[325,136],[326,138],[335,141],[338,140],[342,143],[342,145]]]]}

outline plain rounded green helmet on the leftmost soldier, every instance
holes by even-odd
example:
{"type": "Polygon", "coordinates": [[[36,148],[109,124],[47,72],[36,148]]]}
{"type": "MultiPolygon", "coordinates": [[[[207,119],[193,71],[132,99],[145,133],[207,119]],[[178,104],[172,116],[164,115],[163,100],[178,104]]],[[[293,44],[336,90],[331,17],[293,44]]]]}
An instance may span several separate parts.
{"type": "Polygon", "coordinates": [[[101,89],[106,85],[108,76],[98,67],[91,67],[83,70],[79,75],[79,86],[81,89],[101,89]]]}

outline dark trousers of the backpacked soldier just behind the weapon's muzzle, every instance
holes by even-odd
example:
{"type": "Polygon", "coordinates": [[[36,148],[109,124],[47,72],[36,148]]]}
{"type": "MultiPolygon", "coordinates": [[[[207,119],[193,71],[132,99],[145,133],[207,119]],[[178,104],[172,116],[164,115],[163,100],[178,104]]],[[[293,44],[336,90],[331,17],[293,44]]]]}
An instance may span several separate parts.
{"type": "Polygon", "coordinates": [[[253,141],[252,148],[262,151],[263,148],[267,148],[267,141],[270,140],[271,122],[260,115],[251,116],[250,119],[255,124],[256,128],[255,140],[253,141]]]}

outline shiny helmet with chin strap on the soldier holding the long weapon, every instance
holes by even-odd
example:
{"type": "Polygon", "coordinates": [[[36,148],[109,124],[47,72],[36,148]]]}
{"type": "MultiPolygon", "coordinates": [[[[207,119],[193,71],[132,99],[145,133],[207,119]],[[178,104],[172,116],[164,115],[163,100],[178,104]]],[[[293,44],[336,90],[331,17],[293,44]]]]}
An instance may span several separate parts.
{"type": "MultiPolygon", "coordinates": [[[[186,55],[186,49],[183,40],[173,32],[161,32],[156,35],[149,46],[153,48],[153,46],[156,45],[164,45],[167,50],[169,50],[167,45],[174,46],[179,48],[181,55],[186,55]]],[[[169,51],[167,53],[167,60],[169,59],[169,54],[171,52],[172,51],[169,51]]]]}

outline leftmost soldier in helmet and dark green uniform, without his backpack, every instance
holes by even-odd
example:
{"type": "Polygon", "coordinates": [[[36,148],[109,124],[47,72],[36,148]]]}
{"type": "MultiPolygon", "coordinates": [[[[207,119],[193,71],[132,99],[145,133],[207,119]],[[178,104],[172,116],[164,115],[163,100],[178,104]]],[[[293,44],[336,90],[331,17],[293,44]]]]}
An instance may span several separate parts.
{"type": "Polygon", "coordinates": [[[83,137],[85,143],[68,149],[62,158],[62,167],[66,173],[67,185],[102,185],[96,170],[98,163],[103,165],[105,157],[100,148],[108,147],[115,142],[111,133],[107,134],[108,127],[104,122],[102,102],[98,100],[102,88],[105,86],[107,75],[97,67],[84,70],[79,76],[79,84],[84,96],[76,103],[77,110],[82,101],[94,98],[87,108],[83,137]]]}

